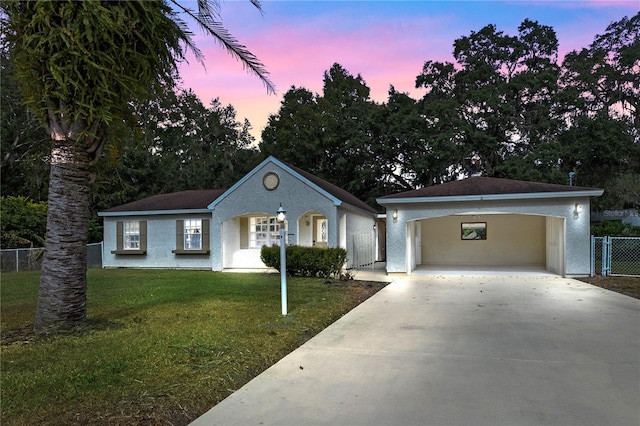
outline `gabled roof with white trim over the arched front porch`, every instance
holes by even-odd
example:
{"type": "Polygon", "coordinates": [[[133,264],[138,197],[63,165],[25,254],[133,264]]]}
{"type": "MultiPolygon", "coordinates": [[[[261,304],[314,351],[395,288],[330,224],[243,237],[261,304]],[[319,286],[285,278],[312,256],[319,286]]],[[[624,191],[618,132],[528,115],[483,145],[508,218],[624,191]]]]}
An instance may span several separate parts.
{"type": "Polygon", "coordinates": [[[209,208],[215,209],[216,205],[220,203],[222,200],[224,200],[224,198],[228,194],[232,193],[237,187],[242,185],[245,181],[247,181],[256,173],[258,173],[258,171],[262,170],[262,168],[268,163],[273,163],[277,165],[281,169],[286,170],[291,175],[300,179],[302,182],[305,182],[307,185],[309,185],[310,187],[314,188],[316,191],[320,192],[321,194],[323,194],[324,196],[332,200],[333,204],[336,206],[340,206],[344,203],[358,210],[363,210],[370,214],[378,213],[377,210],[375,210],[373,207],[369,206],[367,203],[360,200],[355,195],[347,192],[346,190],[339,188],[336,185],[329,183],[323,179],[320,179],[319,177],[314,176],[311,173],[305,172],[302,169],[299,169],[295,166],[291,166],[283,161],[280,161],[273,156],[269,156],[262,163],[254,167],[253,170],[251,170],[242,179],[236,182],[236,184],[233,185],[231,188],[229,188],[223,195],[221,195],[219,198],[215,199],[211,204],[209,204],[209,208]]]}

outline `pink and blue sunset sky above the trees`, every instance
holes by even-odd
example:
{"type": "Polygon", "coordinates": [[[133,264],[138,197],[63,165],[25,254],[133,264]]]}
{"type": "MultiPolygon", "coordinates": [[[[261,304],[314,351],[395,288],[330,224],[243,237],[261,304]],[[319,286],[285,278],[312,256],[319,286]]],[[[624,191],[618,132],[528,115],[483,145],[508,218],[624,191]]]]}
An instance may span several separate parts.
{"type": "MultiPolygon", "coordinates": [[[[248,74],[199,29],[197,46],[205,66],[190,58],[180,66],[183,87],[205,105],[219,98],[247,118],[256,142],[291,86],[322,93],[323,75],[339,63],[360,74],[371,98],[386,102],[389,87],[415,99],[415,78],[425,61],[453,62],[453,42],[488,24],[516,35],[529,18],[555,29],[560,57],[587,47],[596,34],[624,16],[638,13],[638,0],[511,1],[262,1],[264,14],[249,0],[221,1],[223,25],[255,54],[270,73],[276,94],[248,74]]],[[[193,4],[195,7],[195,3],[193,4]]]]}

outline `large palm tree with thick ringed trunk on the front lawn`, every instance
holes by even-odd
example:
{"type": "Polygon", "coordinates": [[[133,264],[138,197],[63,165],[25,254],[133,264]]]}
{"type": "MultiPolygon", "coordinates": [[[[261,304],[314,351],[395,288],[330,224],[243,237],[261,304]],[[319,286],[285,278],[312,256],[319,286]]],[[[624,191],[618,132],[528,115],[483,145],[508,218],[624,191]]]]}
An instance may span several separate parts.
{"type": "Polygon", "coordinates": [[[199,0],[196,10],[175,0],[11,0],[1,7],[3,42],[9,43],[24,101],[51,136],[34,329],[72,327],[86,320],[90,195],[110,129],[129,122],[131,106],[152,87],[173,84],[187,51],[203,59],[181,16],[194,19],[268,92],[274,86],[260,61],[220,23],[218,0],[199,0]]]}

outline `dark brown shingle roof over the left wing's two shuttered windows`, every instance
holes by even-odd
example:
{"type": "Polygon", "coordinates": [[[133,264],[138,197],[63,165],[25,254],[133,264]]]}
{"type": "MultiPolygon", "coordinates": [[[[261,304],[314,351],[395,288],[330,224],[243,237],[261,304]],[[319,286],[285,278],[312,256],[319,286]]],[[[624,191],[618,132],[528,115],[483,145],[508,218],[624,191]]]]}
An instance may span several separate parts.
{"type": "Polygon", "coordinates": [[[225,189],[202,189],[153,195],[142,200],[110,208],[105,212],[206,209],[209,204],[224,194],[225,191],[225,189]]]}

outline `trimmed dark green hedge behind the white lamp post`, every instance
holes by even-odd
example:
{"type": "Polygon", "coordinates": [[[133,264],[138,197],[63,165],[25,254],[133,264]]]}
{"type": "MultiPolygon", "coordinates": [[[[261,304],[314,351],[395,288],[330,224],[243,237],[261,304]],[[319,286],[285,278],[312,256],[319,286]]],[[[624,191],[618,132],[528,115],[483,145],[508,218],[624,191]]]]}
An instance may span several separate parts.
{"type": "MultiPolygon", "coordinates": [[[[287,273],[299,277],[340,277],[347,262],[343,248],[287,246],[287,273]]],[[[270,268],[280,271],[280,247],[263,246],[260,259],[270,268]]]]}

